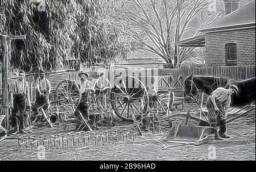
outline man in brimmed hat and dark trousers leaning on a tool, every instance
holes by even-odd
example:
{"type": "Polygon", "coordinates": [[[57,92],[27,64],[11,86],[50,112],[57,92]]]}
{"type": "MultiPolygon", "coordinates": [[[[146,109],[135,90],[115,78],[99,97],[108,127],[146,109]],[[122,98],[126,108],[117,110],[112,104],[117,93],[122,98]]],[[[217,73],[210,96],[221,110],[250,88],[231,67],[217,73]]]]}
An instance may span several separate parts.
{"type": "MultiPolygon", "coordinates": [[[[80,77],[80,91],[81,91],[81,99],[79,101],[79,104],[77,105],[77,108],[75,110],[75,116],[77,117],[77,123],[75,127],[75,131],[87,131],[89,128],[85,124],[85,122],[88,125],[92,125],[94,123],[93,115],[89,115],[88,111],[88,103],[89,103],[89,97],[92,93],[92,90],[90,89],[90,85],[92,83],[88,81],[89,75],[85,72],[79,73],[80,77]],[[84,121],[85,120],[85,121],[84,121]]],[[[92,126],[89,126],[92,127],[92,126]]]]}

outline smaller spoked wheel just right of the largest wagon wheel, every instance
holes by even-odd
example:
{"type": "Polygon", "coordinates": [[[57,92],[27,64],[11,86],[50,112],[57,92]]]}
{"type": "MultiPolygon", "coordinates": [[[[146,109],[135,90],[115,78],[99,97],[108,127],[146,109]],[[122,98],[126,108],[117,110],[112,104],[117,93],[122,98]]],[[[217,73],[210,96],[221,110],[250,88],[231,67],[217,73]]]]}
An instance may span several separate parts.
{"type": "Polygon", "coordinates": [[[171,88],[171,84],[166,81],[164,77],[154,78],[151,77],[148,97],[150,110],[163,112],[166,114],[168,108],[171,107],[173,102],[173,94],[168,91],[171,88]]]}

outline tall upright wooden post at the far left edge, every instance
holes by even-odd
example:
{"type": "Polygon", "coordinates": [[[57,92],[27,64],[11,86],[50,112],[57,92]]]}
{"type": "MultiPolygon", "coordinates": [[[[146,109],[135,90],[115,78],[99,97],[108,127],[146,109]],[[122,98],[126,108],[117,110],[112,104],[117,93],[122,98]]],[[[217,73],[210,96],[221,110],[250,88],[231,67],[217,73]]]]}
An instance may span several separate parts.
{"type": "Polygon", "coordinates": [[[5,48],[5,52],[3,53],[3,83],[4,83],[4,91],[3,91],[3,104],[5,105],[5,115],[7,121],[7,131],[9,131],[9,93],[8,93],[8,74],[9,74],[9,41],[7,41],[7,36],[2,36],[3,39],[3,47],[5,48]]]}

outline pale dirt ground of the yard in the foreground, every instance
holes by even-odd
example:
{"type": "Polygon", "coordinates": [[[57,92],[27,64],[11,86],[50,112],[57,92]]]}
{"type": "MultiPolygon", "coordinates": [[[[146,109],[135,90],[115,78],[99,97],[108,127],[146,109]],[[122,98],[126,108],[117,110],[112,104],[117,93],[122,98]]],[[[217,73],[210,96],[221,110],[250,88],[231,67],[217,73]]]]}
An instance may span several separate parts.
{"type": "MultiPolygon", "coordinates": [[[[178,121],[178,123],[183,120],[178,121]]],[[[63,128],[55,127],[55,130],[63,128]]],[[[66,128],[67,129],[67,128],[66,128]]],[[[103,128],[104,129],[104,128],[103,128]]],[[[106,129],[106,128],[105,128],[106,129]]],[[[112,129],[133,130],[133,124],[115,126],[112,129]]],[[[54,129],[51,129],[51,132],[54,129]]],[[[32,129],[33,131],[33,129],[32,129]]],[[[47,133],[49,128],[34,129],[47,133]]],[[[214,160],[253,160],[255,161],[255,111],[249,116],[238,119],[228,124],[230,139],[214,141],[213,136],[202,145],[183,145],[175,148],[163,149],[157,141],[165,135],[168,128],[162,127],[162,132],[143,132],[143,136],[137,136],[135,142],[115,142],[105,145],[67,146],[63,148],[46,149],[43,160],[212,160],[209,159],[210,148],[216,148],[214,160]],[[213,147],[214,146],[214,147],[213,147]]],[[[50,132],[48,132],[50,133],[50,132]]],[[[166,143],[167,146],[171,144],[166,143]]],[[[38,149],[18,150],[17,139],[5,139],[0,142],[0,160],[40,160],[38,149]]]]}

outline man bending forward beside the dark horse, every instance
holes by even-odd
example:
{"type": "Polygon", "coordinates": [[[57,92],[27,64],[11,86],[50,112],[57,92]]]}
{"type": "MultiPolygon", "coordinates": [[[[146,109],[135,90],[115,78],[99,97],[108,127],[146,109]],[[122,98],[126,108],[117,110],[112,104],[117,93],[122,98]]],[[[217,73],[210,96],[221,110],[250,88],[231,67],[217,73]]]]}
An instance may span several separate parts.
{"type": "Polygon", "coordinates": [[[210,126],[216,128],[214,132],[215,140],[229,139],[226,133],[226,115],[230,106],[232,94],[238,94],[238,88],[235,85],[230,86],[229,89],[222,87],[217,88],[209,95],[206,103],[208,110],[207,118],[210,126]],[[219,131],[217,126],[220,127],[219,131]],[[220,137],[219,137],[220,136],[220,137]],[[222,139],[221,139],[222,138],[222,139]]]}

